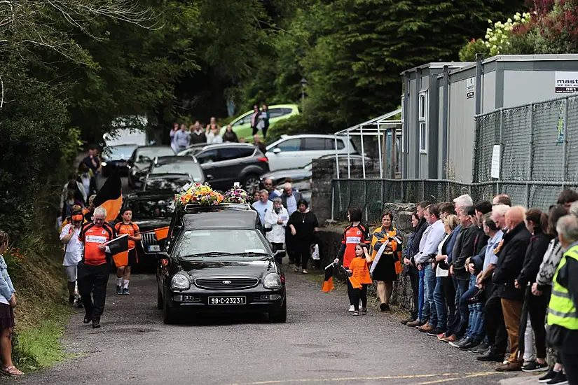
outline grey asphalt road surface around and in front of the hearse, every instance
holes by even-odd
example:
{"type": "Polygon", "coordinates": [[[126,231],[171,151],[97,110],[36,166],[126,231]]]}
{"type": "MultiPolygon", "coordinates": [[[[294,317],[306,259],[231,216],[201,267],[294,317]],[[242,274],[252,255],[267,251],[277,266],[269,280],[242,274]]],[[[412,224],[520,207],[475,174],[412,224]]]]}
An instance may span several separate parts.
{"type": "MultiPolygon", "coordinates": [[[[287,275],[288,320],[199,318],[164,325],[153,275],[131,279],[130,296],[109,280],[102,328],[71,316],[62,337],[69,358],[15,384],[507,384],[472,353],[457,351],[382,314],[348,311],[345,290],[322,293],[320,278],[287,275]],[[315,281],[317,280],[317,281],[315,281]]],[[[535,381],[535,380],[534,380],[535,381]]],[[[531,382],[533,383],[533,381],[531,382]]]]}

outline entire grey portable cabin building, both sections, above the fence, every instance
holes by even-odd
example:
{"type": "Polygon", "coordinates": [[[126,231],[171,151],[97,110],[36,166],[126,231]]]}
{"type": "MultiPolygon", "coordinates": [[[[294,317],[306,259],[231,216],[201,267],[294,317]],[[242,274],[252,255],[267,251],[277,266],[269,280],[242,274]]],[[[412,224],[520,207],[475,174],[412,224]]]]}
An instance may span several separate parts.
{"type": "Polygon", "coordinates": [[[402,177],[471,183],[474,116],[578,92],[578,55],[498,55],[401,75],[402,177]]]}

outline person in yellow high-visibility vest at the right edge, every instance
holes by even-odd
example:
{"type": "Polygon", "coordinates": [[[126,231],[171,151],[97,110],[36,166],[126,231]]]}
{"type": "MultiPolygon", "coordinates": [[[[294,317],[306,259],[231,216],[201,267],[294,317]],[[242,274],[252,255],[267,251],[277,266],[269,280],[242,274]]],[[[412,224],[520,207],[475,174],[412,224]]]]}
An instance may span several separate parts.
{"type": "Polygon", "coordinates": [[[548,337],[561,353],[567,383],[578,384],[578,218],[563,216],[556,230],[565,253],[553,279],[548,337]]]}

